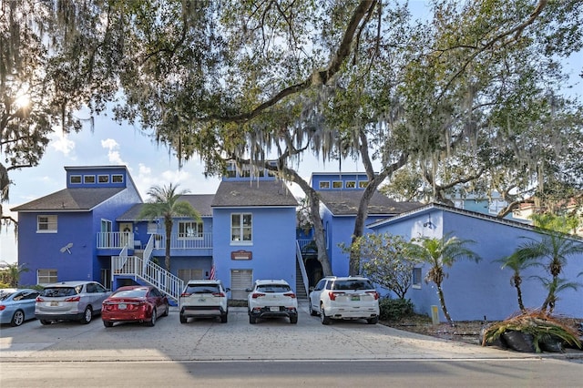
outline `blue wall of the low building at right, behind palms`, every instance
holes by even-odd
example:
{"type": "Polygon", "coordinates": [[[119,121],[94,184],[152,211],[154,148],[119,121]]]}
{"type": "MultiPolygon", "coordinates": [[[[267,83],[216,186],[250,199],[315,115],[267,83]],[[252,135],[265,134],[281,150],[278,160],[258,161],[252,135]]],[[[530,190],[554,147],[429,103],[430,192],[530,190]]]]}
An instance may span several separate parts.
{"type": "MultiPolygon", "coordinates": [[[[517,292],[510,284],[513,271],[501,269],[495,260],[503,258],[516,250],[524,236],[540,239],[534,230],[528,227],[518,227],[514,224],[496,222],[482,218],[471,217],[450,211],[431,211],[431,220],[435,225],[432,229],[423,227],[428,220],[429,212],[423,212],[402,220],[394,220],[375,228],[379,233],[386,231],[407,237],[424,235],[441,237],[452,233],[463,240],[475,240],[468,248],[479,254],[482,260],[476,263],[471,260],[459,260],[451,268],[446,268],[448,277],[442,284],[445,293],[445,304],[455,321],[503,320],[518,311],[517,292]]],[[[422,267],[423,277],[429,267],[422,267]]],[[[563,276],[569,281],[579,281],[576,275],[583,271],[583,255],[568,258],[568,267],[563,276]]],[[[531,268],[522,273],[523,300],[527,308],[539,308],[547,296],[547,290],[540,281],[529,279],[533,275],[548,278],[547,271],[541,268],[531,268]]],[[[430,314],[431,306],[439,306],[435,284],[422,282],[420,289],[410,289],[406,297],[414,302],[415,310],[430,314]]],[[[559,301],[555,313],[568,316],[583,316],[583,299],[579,291],[562,291],[558,294],[559,301]]],[[[441,321],[445,317],[439,309],[441,321]]]]}

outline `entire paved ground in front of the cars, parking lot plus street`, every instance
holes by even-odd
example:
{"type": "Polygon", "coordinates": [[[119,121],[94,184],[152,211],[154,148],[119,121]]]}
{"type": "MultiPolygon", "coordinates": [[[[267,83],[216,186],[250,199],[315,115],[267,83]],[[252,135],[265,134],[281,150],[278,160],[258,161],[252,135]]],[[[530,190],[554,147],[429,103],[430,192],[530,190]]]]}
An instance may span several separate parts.
{"type": "Polygon", "coordinates": [[[59,322],[0,328],[0,386],[583,386],[570,356],[508,352],[365,322],[311,317],[251,325],[244,308],[229,322],[106,329],[59,322]]]}

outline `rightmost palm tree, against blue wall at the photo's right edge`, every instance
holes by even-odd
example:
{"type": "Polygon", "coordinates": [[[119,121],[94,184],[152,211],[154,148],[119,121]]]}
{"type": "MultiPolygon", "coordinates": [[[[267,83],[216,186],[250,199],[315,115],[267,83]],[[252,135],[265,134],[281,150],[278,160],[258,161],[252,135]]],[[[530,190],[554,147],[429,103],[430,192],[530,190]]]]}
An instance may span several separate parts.
{"type": "MultiPolygon", "coordinates": [[[[560,217],[538,219],[540,227],[537,228],[542,234],[541,240],[529,239],[529,241],[517,250],[517,254],[527,257],[530,260],[543,260],[541,265],[547,268],[552,280],[548,282],[551,286],[547,287],[547,298],[541,306],[542,311],[547,311],[548,306],[554,305],[557,301],[557,291],[560,281],[558,277],[567,264],[567,258],[572,255],[583,253],[583,243],[574,240],[572,236],[565,233],[566,223],[560,223],[560,217]],[[547,227],[548,229],[542,229],[547,227]],[[547,263],[544,262],[547,260],[547,263]],[[555,285],[555,286],[552,286],[555,285]]],[[[546,283],[545,283],[546,284],[546,283]]],[[[561,288],[562,290],[564,288],[561,288]]]]}

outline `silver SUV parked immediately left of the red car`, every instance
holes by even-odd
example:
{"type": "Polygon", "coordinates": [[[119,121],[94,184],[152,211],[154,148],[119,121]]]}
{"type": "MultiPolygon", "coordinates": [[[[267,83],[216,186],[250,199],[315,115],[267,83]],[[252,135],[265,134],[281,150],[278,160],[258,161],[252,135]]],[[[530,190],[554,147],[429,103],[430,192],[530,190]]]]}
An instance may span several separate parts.
{"type": "Polygon", "coordinates": [[[59,320],[89,323],[101,313],[101,303],[111,294],[97,281],[61,281],[48,284],[36,297],[35,317],[42,324],[59,320]]]}

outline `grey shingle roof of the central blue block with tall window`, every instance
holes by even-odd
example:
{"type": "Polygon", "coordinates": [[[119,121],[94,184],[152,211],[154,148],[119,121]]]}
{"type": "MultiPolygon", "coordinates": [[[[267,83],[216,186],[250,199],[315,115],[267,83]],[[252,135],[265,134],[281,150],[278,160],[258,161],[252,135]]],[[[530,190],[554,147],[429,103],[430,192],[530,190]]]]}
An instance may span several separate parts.
{"type": "Polygon", "coordinates": [[[296,207],[298,201],[281,180],[242,182],[223,180],[210,206],[213,208],[296,207]]]}

